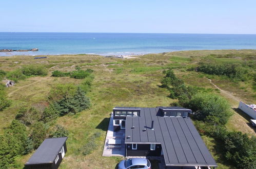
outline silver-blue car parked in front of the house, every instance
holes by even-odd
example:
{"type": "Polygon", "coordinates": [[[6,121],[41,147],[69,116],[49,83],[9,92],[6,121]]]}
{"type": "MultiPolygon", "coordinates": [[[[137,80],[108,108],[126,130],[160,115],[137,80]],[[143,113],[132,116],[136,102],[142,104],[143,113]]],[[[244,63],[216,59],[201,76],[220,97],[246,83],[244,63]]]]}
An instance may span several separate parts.
{"type": "Polygon", "coordinates": [[[122,160],[119,165],[119,169],[132,169],[132,168],[146,168],[150,169],[151,164],[146,158],[130,158],[127,160],[122,160]]]}

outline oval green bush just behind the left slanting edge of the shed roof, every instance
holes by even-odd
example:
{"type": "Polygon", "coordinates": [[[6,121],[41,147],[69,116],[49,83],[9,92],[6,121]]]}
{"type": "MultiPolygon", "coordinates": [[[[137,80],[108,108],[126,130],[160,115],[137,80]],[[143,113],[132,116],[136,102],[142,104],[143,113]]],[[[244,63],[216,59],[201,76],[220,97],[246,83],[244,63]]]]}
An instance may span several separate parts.
{"type": "Polygon", "coordinates": [[[43,122],[36,122],[32,125],[31,139],[36,149],[46,138],[47,129],[43,122]]]}

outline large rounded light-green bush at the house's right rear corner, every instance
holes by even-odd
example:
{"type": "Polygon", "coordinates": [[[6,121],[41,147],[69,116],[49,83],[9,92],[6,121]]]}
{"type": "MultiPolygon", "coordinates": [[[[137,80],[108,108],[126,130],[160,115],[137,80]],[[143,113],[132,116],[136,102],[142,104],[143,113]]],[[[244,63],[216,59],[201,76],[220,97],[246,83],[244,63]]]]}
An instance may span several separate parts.
{"type": "Polygon", "coordinates": [[[225,124],[231,116],[229,103],[219,95],[198,93],[192,96],[188,105],[198,120],[205,121],[207,116],[215,116],[221,124],[225,124]]]}

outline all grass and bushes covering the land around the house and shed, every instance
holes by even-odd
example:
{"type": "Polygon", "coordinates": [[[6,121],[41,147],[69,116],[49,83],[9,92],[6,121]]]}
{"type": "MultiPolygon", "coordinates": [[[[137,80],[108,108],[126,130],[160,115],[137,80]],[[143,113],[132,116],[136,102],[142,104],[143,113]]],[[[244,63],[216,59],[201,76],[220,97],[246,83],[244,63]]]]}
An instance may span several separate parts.
{"type": "Polygon", "coordinates": [[[256,50],[0,57],[1,80],[16,82],[0,87],[0,167],[23,168],[45,138],[68,136],[60,168],[114,168],[121,157],[102,157],[113,107],[181,105],[195,113],[218,168],[251,168],[255,131],[236,108],[256,99],[255,57],[256,50]]]}

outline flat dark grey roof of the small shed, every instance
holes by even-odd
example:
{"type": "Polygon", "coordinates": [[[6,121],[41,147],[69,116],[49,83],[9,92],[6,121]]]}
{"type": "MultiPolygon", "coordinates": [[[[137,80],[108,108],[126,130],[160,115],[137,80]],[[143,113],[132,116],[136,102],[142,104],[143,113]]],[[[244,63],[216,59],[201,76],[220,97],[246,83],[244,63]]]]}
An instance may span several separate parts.
{"type": "Polygon", "coordinates": [[[45,139],[25,165],[52,163],[68,137],[45,139]]]}

